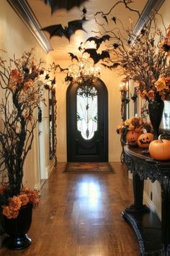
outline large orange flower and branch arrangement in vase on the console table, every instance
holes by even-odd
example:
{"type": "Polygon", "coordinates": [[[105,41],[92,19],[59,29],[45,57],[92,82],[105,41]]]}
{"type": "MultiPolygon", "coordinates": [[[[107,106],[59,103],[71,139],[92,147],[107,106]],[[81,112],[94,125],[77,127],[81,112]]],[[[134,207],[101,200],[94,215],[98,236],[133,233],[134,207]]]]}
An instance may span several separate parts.
{"type": "Polygon", "coordinates": [[[169,99],[170,25],[165,27],[161,15],[151,13],[137,32],[133,30],[131,19],[127,29],[118,19],[110,30],[107,25],[101,27],[102,33],[110,35],[107,46],[109,65],[104,64],[104,67],[117,68],[125,80],[137,82],[138,94],[148,101],[158,96],[163,100],[169,99]],[[158,27],[158,20],[162,30],[158,27]]]}

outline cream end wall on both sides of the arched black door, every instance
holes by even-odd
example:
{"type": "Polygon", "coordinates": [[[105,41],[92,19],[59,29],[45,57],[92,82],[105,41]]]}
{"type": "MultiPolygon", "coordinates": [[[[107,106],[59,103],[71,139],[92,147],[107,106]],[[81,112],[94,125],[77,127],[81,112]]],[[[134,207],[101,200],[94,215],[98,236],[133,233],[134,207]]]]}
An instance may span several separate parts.
{"type": "MultiPolygon", "coordinates": [[[[61,67],[65,68],[71,62],[60,61],[61,67]]],[[[57,74],[57,158],[58,162],[67,161],[67,148],[66,148],[66,90],[67,85],[64,83],[66,74],[57,74]]],[[[119,85],[121,78],[117,72],[110,71],[109,69],[102,68],[101,77],[108,90],[109,101],[109,161],[120,161],[120,153],[122,151],[120,145],[120,135],[117,135],[117,124],[121,121],[120,116],[120,92],[119,85]]]]}

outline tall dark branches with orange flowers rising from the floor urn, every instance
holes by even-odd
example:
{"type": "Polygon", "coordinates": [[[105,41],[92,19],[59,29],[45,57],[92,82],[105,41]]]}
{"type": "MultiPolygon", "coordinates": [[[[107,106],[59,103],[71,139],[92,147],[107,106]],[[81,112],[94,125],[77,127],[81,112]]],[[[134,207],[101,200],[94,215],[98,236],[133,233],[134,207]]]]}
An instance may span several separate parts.
{"type": "Polygon", "coordinates": [[[34,189],[23,188],[23,166],[34,139],[35,108],[45,103],[43,90],[55,78],[44,74],[43,61],[35,64],[34,50],[9,61],[0,51],[0,207],[8,218],[16,218],[22,205],[38,202],[34,189]]]}

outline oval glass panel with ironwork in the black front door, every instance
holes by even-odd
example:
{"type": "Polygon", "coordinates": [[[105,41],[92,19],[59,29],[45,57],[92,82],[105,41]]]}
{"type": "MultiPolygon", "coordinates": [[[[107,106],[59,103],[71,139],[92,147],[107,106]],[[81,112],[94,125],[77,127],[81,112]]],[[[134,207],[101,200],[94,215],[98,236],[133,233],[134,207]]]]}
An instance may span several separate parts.
{"type": "Polygon", "coordinates": [[[81,94],[81,88],[77,90],[77,129],[84,140],[91,140],[98,127],[97,90],[96,95],[89,97],[81,94]]]}

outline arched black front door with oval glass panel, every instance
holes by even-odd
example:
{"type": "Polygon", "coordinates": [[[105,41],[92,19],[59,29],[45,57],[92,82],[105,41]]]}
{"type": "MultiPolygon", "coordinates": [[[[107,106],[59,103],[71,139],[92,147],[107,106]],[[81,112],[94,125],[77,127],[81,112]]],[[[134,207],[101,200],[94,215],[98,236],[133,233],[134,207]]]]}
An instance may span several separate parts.
{"type": "Polygon", "coordinates": [[[67,90],[67,161],[108,161],[107,88],[97,78],[93,95],[83,93],[78,84],[67,90]]]}

